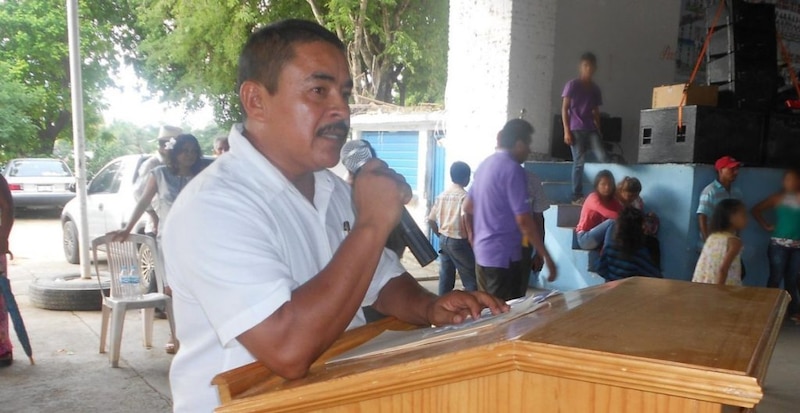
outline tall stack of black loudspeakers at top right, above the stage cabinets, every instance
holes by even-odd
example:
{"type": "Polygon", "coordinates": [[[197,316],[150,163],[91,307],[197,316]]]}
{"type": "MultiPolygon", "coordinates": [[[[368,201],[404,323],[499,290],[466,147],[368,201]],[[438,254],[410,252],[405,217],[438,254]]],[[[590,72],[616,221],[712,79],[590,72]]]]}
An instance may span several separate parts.
{"type": "MultiPolygon", "coordinates": [[[[728,0],[706,52],[706,81],[720,106],[769,110],[778,88],[775,6],[728,0]]],[[[706,9],[711,27],[718,2],[706,9]]]]}

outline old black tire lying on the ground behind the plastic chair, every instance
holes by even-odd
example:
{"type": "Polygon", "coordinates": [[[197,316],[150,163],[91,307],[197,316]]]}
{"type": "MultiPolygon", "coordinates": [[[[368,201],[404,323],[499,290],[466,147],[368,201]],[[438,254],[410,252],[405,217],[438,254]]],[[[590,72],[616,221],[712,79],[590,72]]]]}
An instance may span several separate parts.
{"type": "MultiPolygon", "coordinates": [[[[102,293],[108,295],[110,282],[102,282],[102,293]]],[[[101,285],[97,278],[82,280],[79,275],[39,277],[28,287],[31,304],[45,310],[95,311],[103,305],[101,285]]]]}

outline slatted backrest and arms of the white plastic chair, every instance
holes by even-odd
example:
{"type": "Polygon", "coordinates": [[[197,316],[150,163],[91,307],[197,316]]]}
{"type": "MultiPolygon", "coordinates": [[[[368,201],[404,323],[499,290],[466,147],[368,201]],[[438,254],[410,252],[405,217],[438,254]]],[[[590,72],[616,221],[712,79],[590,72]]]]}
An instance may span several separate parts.
{"type": "MultiPolygon", "coordinates": [[[[156,241],[153,237],[140,234],[130,234],[128,239],[124,242],[114,241],[113,234],[103,235],[92,241],[92,258],[94,259],[94,267],[97,275],[97,282],[101,284],[100,280],[100,264],[97,259],[97,251],[99,249],[105,250],[106,258],[108,260],[108,272],[111,278],[111,296],[115,298],[122,297],[120,289],[122,270],[130,271],[131,268],[136,268],[139,279],[144,280],[143,275],[143,262],[142,251],[147,248],[151,254],[152,268],[155,271],[156,285],[159,293],[164,292],[164,262],[161,254],[158,253],[156,241]]],[[[143,285],[143,293],[147,292],[147,285],[143,285]]],[[[102,289],[101,289],[102,292],[102,289]]]]}

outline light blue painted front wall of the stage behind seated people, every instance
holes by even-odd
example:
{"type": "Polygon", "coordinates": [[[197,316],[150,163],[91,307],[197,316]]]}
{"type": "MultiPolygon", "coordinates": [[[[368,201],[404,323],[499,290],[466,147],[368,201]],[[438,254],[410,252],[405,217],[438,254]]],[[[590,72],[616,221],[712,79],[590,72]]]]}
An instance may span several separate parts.
{"type": "MultiPolygon", "coordinates": [[[[528,163],[526,168],[541,172],[543,180],[560,182],[568,180],[569,163],[528,163]],[[563,178],[558,178],[563,176],[563,178]]],[[[658,214],[661,228],[658,234],[661,241],[662,267],[664,275],[672,279],[690,280],[701,248],[697,224],[697,204],[702,189],[716,176],[714,168],[708,165],[664,164],[664,165],[612,165],[587,164],[585,169],[585,191],[591,190],[591,180],[602,170],[609,169],[617,181],[625,176],[635,176],[642,181],[642,198],[647,211],[658,214]]],[[[742,168],[736,185],[744,193],[748,208],[780,189],[783,171],[768,168],[742,168]]],[[[564,191],[562,191],[564,192],[564,191]]],[[[568,193],[568,191],[566,191],[568,193]]],[[[564,200],[555,199],[556,202],[564,200]]],[[[547,231],[558,232],[555,219],[547,221],[547,231]]],[[[769,234],[754,221],[742,234],[745,244],[743,258],[747,266],[745,284],[765,286],[768,277],[766,256],[769,234]]],[[[567,240],[559,241],[559,244],[567,240]]],[[[571,242],[571,240],[569,240],[571,242]]],[[[563,245],[563,249],[571,247],[563,245]]],[[[585,271],[585,269],[583,269],[585,271]]],[[[559,288],[581,288],[590,276],[570,276],[574,281],[562,280],[559,288]]]]}

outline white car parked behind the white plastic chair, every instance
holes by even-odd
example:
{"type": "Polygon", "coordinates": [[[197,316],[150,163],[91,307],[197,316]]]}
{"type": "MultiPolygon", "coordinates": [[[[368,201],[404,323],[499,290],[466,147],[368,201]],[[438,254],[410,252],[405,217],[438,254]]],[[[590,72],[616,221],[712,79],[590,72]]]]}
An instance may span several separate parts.
{"type": "MultiPolygon", "coordinates": [[[[135,184],[139,178],[139,166],[149,155],[127,155],[109,162],[87,187],[87,209],[89,239],[95,239],[111,231],[124,228],[136,207],[135,184]]],[[[73,199],[61,211],[61,226],[64,239],[64,257],[71,264],[80,261],[78,253],[78,223],[80,219],[78,200],[73,199]]],[[[147,214],[136,224],[134,232],[144,233],[147,214]]]]}

